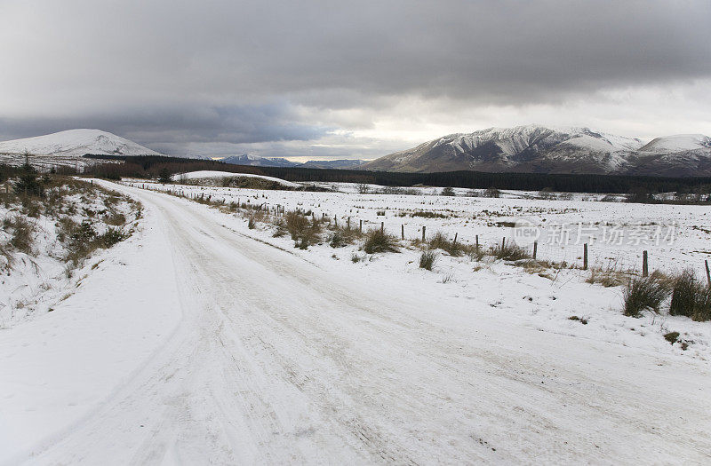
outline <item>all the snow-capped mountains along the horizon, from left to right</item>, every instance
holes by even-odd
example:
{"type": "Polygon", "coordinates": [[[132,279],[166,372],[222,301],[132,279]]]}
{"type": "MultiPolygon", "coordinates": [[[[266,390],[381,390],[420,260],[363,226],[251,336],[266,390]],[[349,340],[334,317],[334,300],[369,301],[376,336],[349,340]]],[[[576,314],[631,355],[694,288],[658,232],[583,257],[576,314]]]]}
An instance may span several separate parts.
{"type": "MultiPolygon", "coordinates": [[[[64,158],[93,155],[164,155],[102,130],[66,130],[0,142],[0,154],[64,158]]],[[[74,160],[74,159],[72,159],[74,160]]],[[[316,169],[584,173],[667,177],[711,177],[711,138],[688,134],[645,143],[588,128],[542,125],[489,128],[427,141],[373,161],[340,159],[292,162],[280,157],[230,155],[221,162],[261,167],[316,169]]]]}

